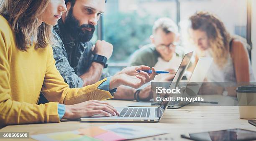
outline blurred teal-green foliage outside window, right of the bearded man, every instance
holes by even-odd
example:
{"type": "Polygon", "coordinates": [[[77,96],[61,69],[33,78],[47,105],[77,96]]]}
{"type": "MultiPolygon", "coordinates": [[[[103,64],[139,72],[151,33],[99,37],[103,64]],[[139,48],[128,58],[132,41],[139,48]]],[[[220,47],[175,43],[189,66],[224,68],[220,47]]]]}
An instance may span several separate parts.
{"type": "Polygon", "coordinates": [[[150,43],[152,25],[156,18],[138,13],[109,13],[104,16],[104,39],[114,46],[110,61],[128,61],[141,45],[150,43]]]}

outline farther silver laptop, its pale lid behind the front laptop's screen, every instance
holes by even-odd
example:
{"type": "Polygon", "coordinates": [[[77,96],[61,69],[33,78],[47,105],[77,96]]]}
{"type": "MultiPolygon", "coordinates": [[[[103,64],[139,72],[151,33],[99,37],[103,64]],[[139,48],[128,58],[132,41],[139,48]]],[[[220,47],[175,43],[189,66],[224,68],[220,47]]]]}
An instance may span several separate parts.
{"type": "MultiPolygon", "coordinates": [[[[202,85],[202,82],[204,81],[205,79],[205,76],[212,64],[212,61],[213,59],[212,58],[209,58],[209,57],[201,57],[199,58],[198,62],[197,62],[197,65],[189,79],[189,83],[190,82],[196,82],[197,83],[197,87],[192,87],[192,90],[194,93],[198,93],[199,92],[199,89],[202,85]]],[[[178,73],[178,72],[177,72],[178,73]]],[[[177,74],[176,74],[177,75],[177,74]]],[[[175,77],[176,77],[175,75],[175,77]]],[[[182,74],[183,75],[183,74],[182,74]]],[[[175,78],[174,77],[174,78],[175,78]]],[[[179,80],[177,81],[176,85],[179,85],[179,80]]],[[[175,81],[174,81],[175,82],[175,81]]],[[[184,86],[186,87],[186,86],[184,86]]],[[[189,94],[187,93],[182,93],[182,97],[185,97],[185,96],[188,96],[189,94]]],[[[178,95],[176,95],[178,96],[178,95]]],[[[187,104],[189,104],[189,102],[187,101],[171,101],[168,105],[168,108],[181,108],[183,106],[186,106],[187,104]]],[[[129,104],[128,105],[129,107],[155,107],[155,106],[159,106],[159,103],[156,103],[156,102],[136,102],[136,103],[133,103],[133,104],[129,104]]]]}

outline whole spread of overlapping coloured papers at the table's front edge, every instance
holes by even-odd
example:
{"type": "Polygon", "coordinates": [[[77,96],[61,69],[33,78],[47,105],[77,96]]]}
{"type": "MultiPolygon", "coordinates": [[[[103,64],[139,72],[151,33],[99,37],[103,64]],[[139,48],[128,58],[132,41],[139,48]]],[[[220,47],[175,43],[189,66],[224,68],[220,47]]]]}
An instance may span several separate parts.
{"type": "Polygon", "coordinates": [[[106,126],[80,128],[75,131],[31,135],[38,141],[121,141],[167,133],[143,126],[109,124],[106,126]]]}

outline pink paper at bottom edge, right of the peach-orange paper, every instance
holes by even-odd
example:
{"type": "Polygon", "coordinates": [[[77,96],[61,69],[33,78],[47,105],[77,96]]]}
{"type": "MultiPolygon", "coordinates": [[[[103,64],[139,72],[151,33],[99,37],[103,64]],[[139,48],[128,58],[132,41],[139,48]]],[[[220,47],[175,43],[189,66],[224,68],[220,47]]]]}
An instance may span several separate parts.
{"type": "Polygon", "coordinates": [[[101,135],[94,136],[94,138],[100,139],[102,141],[123,141],[126,140],[126,138],[123,138],[122,136],[119,136],[118,134],[108,131],[107,133],[102,133],[101,135]]]}

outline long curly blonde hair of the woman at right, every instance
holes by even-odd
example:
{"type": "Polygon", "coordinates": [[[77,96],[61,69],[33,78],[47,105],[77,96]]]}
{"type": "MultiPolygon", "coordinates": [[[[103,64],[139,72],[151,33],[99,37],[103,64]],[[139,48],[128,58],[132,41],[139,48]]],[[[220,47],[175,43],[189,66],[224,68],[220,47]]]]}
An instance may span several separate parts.
{"type": "Polygon", "coordinates": [[[227,63],[231,40],[223,22],[216,15],[202,11],[195,13],[189,19],[193,30],[206,32],[213,59],[220,68],[223,68],[227,63]]]}

